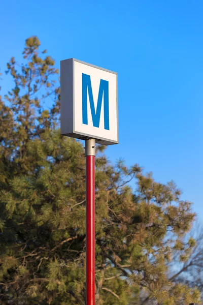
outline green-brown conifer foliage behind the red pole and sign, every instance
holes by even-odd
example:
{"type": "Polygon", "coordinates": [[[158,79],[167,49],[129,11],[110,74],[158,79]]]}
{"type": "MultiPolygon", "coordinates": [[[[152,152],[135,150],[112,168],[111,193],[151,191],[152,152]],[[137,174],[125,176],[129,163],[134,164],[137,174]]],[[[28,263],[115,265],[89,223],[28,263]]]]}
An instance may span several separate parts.
{"type": "MultiPolygon", "coordinates": [[[[85,304],[85,156],[58,129],[54,60],[26,40],[24,62],[8,63],[14,88],[0,99],[0,294],[2,304],[85,304]],[[45,99],[54,101],[44,109],[45,99]]],[[[168,279],[168,263],[195,246],[194,220],[176,185],[138,165],[112,166],[97,147],[96,304],[197,302],[199,292],[168,279]],[[136,184],[132,192],[128,181],[136,184]]]]}

